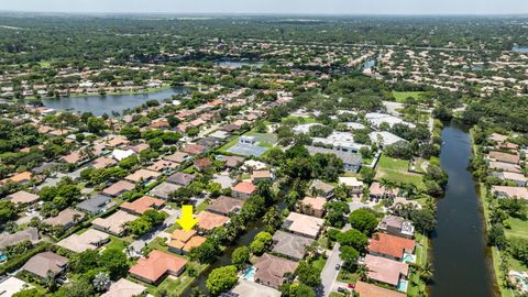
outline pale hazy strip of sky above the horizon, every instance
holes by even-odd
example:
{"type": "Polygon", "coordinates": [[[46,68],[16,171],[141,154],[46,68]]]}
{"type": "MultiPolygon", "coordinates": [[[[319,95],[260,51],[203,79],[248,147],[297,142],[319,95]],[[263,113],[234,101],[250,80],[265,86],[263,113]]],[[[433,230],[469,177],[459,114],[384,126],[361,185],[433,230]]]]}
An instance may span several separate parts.
{"type": "Polygon", "coordinates": [[[527,0],[0,0],[0,10],[99,13],[528,14],[527,0]]]}

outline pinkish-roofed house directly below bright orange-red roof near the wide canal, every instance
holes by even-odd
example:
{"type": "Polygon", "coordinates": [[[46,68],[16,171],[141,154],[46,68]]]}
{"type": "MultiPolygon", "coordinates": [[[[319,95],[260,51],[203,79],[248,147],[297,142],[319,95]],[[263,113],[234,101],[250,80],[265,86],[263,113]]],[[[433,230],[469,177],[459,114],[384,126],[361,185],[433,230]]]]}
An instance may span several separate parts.
{"type": "Polygon", "coordinates": [[[397,287],[409,274],[407,263],[367,254],[364,260],[369,278],[373,282],[397,287]]]}

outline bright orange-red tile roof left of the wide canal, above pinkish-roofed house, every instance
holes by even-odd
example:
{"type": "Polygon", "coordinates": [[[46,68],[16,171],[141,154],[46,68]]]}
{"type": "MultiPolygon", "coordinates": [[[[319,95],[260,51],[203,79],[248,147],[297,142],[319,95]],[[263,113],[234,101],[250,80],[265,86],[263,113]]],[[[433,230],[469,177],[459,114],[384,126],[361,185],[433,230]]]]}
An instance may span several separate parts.
{"type": "Polygon", "coordinates": [[[369,251],[400,258],[404,250],[414,251],[415,241],[386,233],[376,233],[369,240],[369,251]]]}

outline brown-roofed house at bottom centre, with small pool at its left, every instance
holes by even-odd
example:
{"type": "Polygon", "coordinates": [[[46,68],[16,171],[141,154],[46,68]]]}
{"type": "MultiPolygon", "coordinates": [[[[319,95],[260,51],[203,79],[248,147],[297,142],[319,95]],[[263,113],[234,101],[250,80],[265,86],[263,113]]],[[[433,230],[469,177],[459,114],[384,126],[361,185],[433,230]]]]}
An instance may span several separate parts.
{"type": "Polygon", "coordinates": [[[299,263],[265,253],[256,262],[254,279],[273,288],[283,285],[287,274],[293,274],[299,263]]]}

